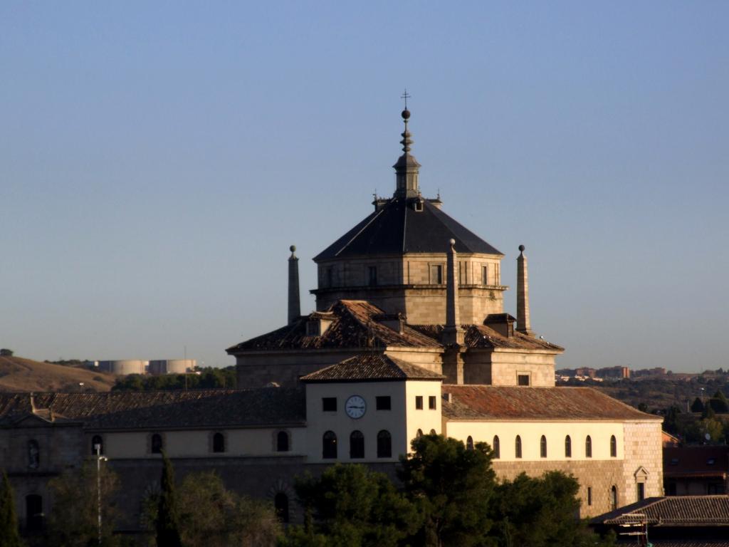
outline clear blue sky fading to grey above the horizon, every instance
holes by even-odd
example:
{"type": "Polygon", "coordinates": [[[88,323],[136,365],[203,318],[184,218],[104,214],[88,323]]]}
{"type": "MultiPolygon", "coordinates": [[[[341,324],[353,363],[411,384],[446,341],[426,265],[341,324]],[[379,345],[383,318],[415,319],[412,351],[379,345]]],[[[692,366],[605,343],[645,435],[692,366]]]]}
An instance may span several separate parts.
{"type": "Polygon", "coordinates": [[[234,364],[391,195],[504,253],[558,368],[728,368],[729,3],[0,3],[0,347],[234,364]]]}

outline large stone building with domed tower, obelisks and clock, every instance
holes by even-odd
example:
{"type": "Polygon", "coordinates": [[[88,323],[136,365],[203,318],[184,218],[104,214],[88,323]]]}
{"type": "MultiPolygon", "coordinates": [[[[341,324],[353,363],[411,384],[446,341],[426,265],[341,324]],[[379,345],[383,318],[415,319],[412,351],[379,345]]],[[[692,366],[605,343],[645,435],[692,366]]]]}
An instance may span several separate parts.
{"type": "MultiPolygon", "coordinates": [[[[295,513],[294,477],[332,462],[393,474],[422,432],[494,449],[494,469],[572,473],[582,516],[663,494],[661,419],[582,387],[555,387],[564,350],[531,330],[526,256],[504,312],[504,255],[418,189],[410,112],[391,198],[315,257],[316,311],[300,314],[289,257],[289,322],[232,346],[235,391],[0,395],[0,465],[28,527],[52,511],[47,479],[100,445],[122,476],[125,527],[139,527],[160,451],[179,473],[295,513]]],[[[292,515],[295,518],[295,515],[292,515]]]]}

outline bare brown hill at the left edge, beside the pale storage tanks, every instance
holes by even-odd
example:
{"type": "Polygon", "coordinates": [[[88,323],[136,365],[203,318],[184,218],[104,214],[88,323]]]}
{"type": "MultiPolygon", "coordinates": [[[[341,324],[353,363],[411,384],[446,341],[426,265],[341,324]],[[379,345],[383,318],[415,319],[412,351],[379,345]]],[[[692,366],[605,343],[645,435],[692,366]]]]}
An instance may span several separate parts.
{"type": "Polygon", "coordinates": [[[0,391],[109,391],[117,376],[23,357],[0,357],[0,391]],[[82,386],[79,384],[83,383],[82,386]]]}

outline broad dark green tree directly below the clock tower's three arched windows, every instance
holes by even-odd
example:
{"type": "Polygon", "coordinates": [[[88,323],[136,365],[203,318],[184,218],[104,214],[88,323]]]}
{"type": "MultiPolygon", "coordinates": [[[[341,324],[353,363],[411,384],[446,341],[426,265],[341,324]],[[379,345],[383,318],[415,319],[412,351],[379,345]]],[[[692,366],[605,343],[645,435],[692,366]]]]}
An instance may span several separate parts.
{"type": "Polygon", "coordinates": [[[415,505],[363,465],[334,465],[319,478],[306,473],[295,489],[306,524],[289,529],[286,547],[395,547],[419,528],[415,505]]]}

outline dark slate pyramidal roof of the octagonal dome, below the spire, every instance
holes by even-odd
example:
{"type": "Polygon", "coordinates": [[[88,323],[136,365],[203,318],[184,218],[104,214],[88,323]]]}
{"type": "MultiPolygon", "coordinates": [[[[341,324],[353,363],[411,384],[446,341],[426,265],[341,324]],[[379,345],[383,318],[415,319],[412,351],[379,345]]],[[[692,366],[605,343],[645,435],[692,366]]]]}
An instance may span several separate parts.
{"type": "Polygon", "coordinates": [[[359,222],[314,257],[315,262],[340,257],[402,255],[408,252],[447,252],[456,240],[456,252],[502,255],[471,230],[429,201],[416,212],[405,198],[392,198],[379,211],[359,222]]]}

